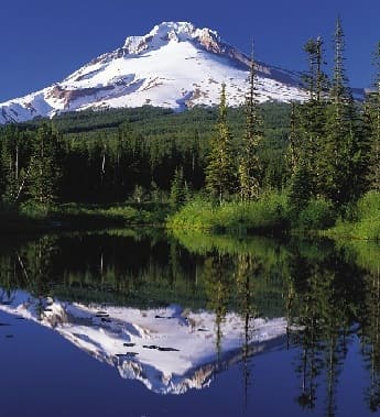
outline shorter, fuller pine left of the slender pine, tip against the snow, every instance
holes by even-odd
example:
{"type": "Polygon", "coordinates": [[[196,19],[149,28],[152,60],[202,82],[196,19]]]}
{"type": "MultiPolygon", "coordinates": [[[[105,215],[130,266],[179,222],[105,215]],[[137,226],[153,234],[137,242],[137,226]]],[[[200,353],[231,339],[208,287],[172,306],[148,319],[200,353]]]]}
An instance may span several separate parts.
{"type": "Polygon", "coordinates": [[[226,85],[221,85],[219,116],[210,141],[206,167],[206,189],[221,204],[236,191],[236,164],[232,135],[227,123],[226,85]]]}

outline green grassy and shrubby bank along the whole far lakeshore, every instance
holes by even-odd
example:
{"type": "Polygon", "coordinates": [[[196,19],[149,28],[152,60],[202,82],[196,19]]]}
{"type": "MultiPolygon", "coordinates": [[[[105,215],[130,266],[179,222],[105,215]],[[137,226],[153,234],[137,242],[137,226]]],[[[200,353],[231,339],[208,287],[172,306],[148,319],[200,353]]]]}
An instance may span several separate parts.
{"type": "Polygon", "coordinates": [[[21,205],[0,208],[1,232],[39,232],[55,229],[104,229],[164,226],[170,230],[216,234],[302,234],[333,239],[380,240],[380,194],[370,191],[338,218],[324,199],[313,199],[303,209],[292,207],[285,193],[271,191],[257,201],[211,202],[195,197],[176,212],[169,204],[118,205],[65,204],[56,207],[21,205]]]}

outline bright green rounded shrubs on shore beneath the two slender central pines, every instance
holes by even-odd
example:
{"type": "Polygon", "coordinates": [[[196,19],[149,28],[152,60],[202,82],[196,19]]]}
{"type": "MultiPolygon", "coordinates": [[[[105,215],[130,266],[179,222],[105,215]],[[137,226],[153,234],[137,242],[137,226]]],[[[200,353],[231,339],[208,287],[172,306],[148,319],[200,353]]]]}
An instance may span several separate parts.
{"type": "Polygon", "coordinates": [[[296,210],[284,193],[271,191],[250,202],[216,205],[197,198],[170,217],[166,224],[171,230],[278,235],[289,232],[313,234],[334,222],[334,210],[324,199],[312,200],[303,210],[296,210]]]}

